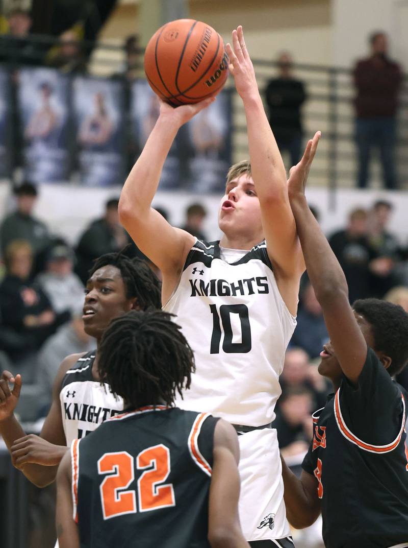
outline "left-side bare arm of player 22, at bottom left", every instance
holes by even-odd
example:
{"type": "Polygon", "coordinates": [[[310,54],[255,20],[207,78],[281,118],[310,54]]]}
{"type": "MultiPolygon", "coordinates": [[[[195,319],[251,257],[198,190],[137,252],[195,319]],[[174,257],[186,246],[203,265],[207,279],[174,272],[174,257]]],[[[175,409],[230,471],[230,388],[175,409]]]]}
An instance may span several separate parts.
{"type": "Polygon", "coordinates": [[[78,526],[73,519],[71,453],[68,451],[57,473],[56,531],[60,548],[79,548],[78,526]]]}

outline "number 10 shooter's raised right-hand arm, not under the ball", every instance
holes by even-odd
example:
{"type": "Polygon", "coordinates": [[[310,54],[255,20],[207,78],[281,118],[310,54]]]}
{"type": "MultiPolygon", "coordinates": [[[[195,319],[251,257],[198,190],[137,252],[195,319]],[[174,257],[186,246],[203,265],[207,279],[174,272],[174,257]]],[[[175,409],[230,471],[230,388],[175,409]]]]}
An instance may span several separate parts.
{"type": "MultiPolygon", "coordinates": [[[[230,71],[240,94],[247,119],[249,156],[255,190],[259,197],[267,251],[279,281],[299,283],[304,262],[290,209],[285,168],[272,134],[258,89],[255,71],[244,42],[242,27],[232,32],[232,45],[226,45],[230,71]]],[[[297,294],[293,287],[279,287],[282,297],[295,313],[297,294]],[[296,295],[295,295],[296,294],[296,295]]]]}

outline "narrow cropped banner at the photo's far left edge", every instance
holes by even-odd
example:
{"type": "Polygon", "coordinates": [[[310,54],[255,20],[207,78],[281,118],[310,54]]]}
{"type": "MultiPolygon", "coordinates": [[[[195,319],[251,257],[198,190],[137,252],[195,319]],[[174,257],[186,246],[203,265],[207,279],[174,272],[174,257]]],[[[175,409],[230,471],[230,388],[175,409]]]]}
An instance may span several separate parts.
{"type": "Polygon", "coordinates": [[[0,69],[0,178],[11,172],[11,89],[10,75],[0,69]]]}

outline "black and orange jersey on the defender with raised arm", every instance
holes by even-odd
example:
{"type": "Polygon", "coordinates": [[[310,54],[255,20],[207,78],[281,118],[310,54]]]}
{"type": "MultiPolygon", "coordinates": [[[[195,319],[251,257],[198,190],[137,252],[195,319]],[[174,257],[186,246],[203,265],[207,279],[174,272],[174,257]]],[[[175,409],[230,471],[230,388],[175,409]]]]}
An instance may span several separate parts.
{"type": "Polygon", "coordinates": [[[408,546],[406,393],[368,349],[358,386],[340,389],[313,414],[302,464],[318,479],[328,548],[408,546]]]}

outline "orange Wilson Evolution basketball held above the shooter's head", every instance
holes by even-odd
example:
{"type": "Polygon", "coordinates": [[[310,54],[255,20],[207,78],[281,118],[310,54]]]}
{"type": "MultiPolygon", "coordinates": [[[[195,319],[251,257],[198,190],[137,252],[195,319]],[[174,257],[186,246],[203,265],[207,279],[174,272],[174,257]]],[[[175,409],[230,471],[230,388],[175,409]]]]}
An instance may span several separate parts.
{"type": "Polygon", "coordinates": [[[174,106],[216,95],[228,77],[223,39],[194,19],[166,23],[150,38],[144,71],[151,89],[174,106]]]}

